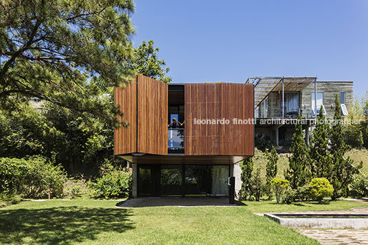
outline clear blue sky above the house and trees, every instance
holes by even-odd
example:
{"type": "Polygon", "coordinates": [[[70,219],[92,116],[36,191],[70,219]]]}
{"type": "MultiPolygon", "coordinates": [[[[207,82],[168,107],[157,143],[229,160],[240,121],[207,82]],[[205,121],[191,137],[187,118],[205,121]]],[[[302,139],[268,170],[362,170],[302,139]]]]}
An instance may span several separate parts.
{"type": "Polygon", "coordinates": [[[135,4],[135,47],[154,40],[175,83],[317,76],[368,90],[368,0],[135,4]]]}

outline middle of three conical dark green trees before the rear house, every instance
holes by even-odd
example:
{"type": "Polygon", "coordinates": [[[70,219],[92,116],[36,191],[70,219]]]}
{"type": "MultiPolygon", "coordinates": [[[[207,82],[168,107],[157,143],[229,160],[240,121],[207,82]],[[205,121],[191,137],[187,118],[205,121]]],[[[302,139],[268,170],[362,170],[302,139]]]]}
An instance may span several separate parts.
{"type": "Polygon", "coordinates": [[[328,150],[329,131],[330,125],[325,122],[325,116],[321,108],[309,147],[313,178],[330,179],[331,177],[332,156],[328,150]]]}

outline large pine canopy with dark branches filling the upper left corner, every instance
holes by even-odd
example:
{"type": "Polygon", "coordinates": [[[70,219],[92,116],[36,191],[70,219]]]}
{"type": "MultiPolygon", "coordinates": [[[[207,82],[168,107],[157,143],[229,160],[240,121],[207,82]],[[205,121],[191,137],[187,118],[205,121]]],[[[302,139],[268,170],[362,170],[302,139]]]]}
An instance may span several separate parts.
{"type": "Polygon", "coordinates": [[[1,107],[36,97],[116,126],[118,108],[100,102],[88,81],[130,82],[134,10],[131,0],[1,1],[1,107]]]}

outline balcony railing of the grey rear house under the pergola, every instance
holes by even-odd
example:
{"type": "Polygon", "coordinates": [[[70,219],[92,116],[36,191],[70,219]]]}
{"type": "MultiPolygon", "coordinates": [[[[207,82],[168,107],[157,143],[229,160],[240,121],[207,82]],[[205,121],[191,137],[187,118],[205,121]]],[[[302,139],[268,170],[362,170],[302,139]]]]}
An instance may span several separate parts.
{"type": "MultiPolygon", "coordinates": [[[[282,107],[281,106],[268,106],[266,108],[257,108],[255,111],[255,117],[257,118],[279,118],[282,117],[282,107]],[[260,113],[259,113],[260,112],[260,113]]],[[[303,118],[314,118],[316,117],[312,106],[299,106],[295,110],[287,110],[284,108],[284,118],[297,118],[298,115],[303,118]]]]}

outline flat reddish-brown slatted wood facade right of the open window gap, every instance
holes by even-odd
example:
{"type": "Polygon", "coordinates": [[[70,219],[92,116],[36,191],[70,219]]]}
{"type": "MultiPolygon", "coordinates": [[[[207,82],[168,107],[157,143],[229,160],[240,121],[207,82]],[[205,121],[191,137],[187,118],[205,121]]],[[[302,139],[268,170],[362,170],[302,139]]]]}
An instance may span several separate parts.
{"type": "Polygon", "coordinates": [[[253,155],[253,97],[253,84],[185,84],[185,155],[253,155]]]}

